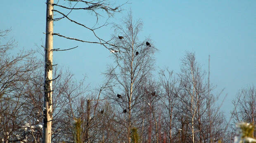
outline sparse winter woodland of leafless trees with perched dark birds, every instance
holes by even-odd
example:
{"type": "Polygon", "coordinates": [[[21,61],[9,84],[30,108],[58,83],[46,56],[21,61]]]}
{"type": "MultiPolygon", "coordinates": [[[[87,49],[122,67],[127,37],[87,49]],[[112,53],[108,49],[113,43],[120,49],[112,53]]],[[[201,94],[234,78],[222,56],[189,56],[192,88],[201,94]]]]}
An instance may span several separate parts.
{"type": "Polygon", "coordinates": [[[216,91],[218,83],[210,82],[210,66],[202,69],[193,52],[179,57],[180,71],[169,67],[155,72],[154,54],[161,47],[138,36],[142,20],[133,19],[129,12],[121,25],[114,24],[111,39],[104,40],[95,32],[101,27],[89,28],[72,20],[67,11],[91,11],[96,18],[103,12],[111,17],[122,11],[122,5],[79,0],[85,7],[77,8],[78,0],[67,1],[61,5],[47,0],[54,7],[46,16],[47,25],[66,18],[87,28],[98,41],[52,31],[46,31],[47,39],[55,35],[109,49],[113,63],[102,71],[106,78],[95,89],[85,79],[77,81],[72,71],[46,59],[51,52],[63,50],[47,47],[51,42],[42,45],[48,55],[45,61],[37,59],[32,50],[13,55],[19,47],[8,37],[12,31],[0,30],[0,142],[49,143],[43,133],[49,129],[45,123],[51,124],[52,143],[233,143],[239,122],[251,123],[251,137],[256,138],[255,85],[237,90],[232,118],[226,118],[217,104],[222,102],[218,97],[225,95],[216,91]]]}

